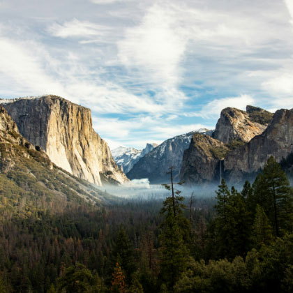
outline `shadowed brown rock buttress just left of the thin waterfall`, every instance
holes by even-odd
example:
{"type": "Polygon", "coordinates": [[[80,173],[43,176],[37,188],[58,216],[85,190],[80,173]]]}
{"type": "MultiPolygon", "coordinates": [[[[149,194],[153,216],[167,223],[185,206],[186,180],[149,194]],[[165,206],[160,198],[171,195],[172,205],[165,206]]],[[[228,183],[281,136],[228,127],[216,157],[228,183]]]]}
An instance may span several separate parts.
{"type": "Polygon", "coordinates": [[[180,180],[186,184],[219,182],[222,160],[229,149],[208,135],[195,133],[183,154],[180,180]]]}

